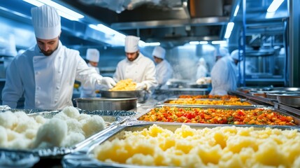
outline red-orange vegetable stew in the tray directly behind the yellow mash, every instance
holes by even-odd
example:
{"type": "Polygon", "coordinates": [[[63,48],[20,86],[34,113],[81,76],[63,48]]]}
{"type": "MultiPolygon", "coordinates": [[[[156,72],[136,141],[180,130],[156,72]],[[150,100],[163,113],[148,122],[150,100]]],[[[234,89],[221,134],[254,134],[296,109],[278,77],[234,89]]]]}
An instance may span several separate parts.
{"type": "Polygon", "coordinates": [[[138,120],[150,122],[206,123],[229,125],[296,125],[291,116],[273,109],[203,109],[161,106],[151,109],[138,120]]]}

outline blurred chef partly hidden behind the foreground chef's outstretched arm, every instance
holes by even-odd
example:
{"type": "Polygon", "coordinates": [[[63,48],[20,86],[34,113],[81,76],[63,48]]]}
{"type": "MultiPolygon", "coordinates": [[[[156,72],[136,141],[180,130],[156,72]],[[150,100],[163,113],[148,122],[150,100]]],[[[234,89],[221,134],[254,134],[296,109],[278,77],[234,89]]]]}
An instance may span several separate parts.
{"type": "MultiPolygon", "coordinates": [[[[87,48],[87,66],[92,67],[100,74],[98,68],[100,52],[96,48],[87,48]]],[[[97,87],[81,87],[80,97],[96,97],[96,90],[99,89],[97,87]]]]}

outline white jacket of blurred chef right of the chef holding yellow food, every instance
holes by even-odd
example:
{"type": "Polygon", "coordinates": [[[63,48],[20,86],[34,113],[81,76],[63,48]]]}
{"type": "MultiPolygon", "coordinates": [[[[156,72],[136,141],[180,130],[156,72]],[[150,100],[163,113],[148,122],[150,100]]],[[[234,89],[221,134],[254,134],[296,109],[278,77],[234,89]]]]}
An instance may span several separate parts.
{"type": "Polygon", "coordinates": [[[166,82],[173,76],[172,66],[165,59],[156,65],[156,78],[159,85],[165,85],[166,82]]]}

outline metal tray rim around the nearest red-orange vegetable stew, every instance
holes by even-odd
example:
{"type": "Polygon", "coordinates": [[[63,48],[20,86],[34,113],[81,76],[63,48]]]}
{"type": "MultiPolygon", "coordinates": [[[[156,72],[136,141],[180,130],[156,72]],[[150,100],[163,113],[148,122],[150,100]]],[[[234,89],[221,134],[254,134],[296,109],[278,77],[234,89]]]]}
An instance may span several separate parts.
{"type": "MultiPolygon", "coordinates": [[[[160,107],[163,107],[163,106],[166,106],[166,105],[157,104],[157,105],[153,106],[151,109],[160,108],[160,107]]],[[[294,120],[294,123],[297,126],[300,125],[299,116],[296,116],[292,113],[288,113],[286,111],[281,111],[279,109],[274,109],[271,106],[269,106],[269,107],[268,106],[181,106],[181,105],[172,105],[172,106],[175,106],[175,107],[178,107],[178,108],[200,108],[200,109],[244,109],[244,110],[251,110],[251,109],[257,109],[257,108],[259,108],[259,109],[271,109],[274,112],[283,114],[285,116],[291,116],[294,120]]],[[[130,118],[130,120],[133,120],[132,122],[134,122],[134,123],[164,123],[164,122],[159,122],[159,121],[157,121],[157,122],[148,122],[148,121],[139,120],[139,118],[141,118],[142,116],[145,116],[147,113],[149,113],[151,109],[141,111],[141,113],[138,113],[136,116],[130,118]]],[[[195,124],[202,125],[201,123],[195,123],[195,124]]],[[[215,124],[208,124],[208,125],[215,125],[215,124]]]]}

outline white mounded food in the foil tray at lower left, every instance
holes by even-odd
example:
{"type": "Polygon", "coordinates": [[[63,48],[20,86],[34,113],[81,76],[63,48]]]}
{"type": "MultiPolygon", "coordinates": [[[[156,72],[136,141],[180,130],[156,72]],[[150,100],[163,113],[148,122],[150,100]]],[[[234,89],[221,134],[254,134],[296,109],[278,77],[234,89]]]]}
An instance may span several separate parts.
{"type": "Polygon", "coordinates": [[[80,114],[70,106],[53,118],[30,117],[24,111],[0,113],[1,148],[48,148],[73,146],[105,129],[101,116],[80,114]]]}

